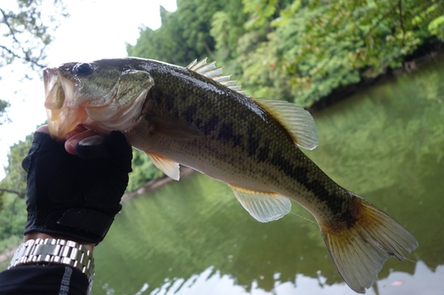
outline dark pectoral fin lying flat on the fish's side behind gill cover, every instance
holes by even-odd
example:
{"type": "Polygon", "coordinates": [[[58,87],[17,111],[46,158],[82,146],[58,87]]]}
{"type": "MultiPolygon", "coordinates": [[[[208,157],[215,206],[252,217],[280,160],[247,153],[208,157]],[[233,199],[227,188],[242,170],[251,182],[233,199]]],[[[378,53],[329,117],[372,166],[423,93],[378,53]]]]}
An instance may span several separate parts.
{"type": "Polygon", "coordinates": [[[151,131],[160,136],[177,140],[191,140],[202,137],[202,132],[186,120],[172,117],[149,117],[151,131]]]}

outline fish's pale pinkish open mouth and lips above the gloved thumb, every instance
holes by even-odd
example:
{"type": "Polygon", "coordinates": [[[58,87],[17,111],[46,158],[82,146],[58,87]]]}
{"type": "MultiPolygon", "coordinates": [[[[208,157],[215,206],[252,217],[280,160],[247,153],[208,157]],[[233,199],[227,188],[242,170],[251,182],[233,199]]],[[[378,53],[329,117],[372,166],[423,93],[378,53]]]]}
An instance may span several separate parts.
{"type": "Polygon", "coordinates": [[[58,68],[44,69],[44,107],[52,137],[65,140],[67,133],[87,120],[83,106],[75,103],[75,82],[59,74],[58,68]]]}

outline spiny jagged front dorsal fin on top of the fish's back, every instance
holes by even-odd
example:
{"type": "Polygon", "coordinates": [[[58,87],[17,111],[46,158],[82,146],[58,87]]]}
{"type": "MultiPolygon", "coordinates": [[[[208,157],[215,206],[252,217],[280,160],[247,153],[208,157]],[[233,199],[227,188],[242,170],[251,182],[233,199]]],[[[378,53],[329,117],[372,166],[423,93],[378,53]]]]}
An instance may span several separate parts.
{"type": "Polygon", "coordinates": [[[217,67],[215,61],[208,64],[207,58],[203,58],[199,62],[197,59],[194,59],[194,61],[186,66],[186,68],[197,74],[202,74],[202,76],[210,78],[211,80],[218,82],[229,89],[233,89],[243,96],[245,95],[245,91],[241,90],[241,85],[236,85],[236,82],[230,79],[231,74],[222,74],[222,67],[217,67]]]}

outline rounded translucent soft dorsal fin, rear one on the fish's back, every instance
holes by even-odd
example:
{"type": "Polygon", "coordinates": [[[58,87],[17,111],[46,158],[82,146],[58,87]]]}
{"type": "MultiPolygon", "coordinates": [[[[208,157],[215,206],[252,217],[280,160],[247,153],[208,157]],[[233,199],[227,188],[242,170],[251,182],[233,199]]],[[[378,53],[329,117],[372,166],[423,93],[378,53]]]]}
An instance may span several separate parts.
{"type": "Polygon", "coordinates": [[[304,108],[285,100],[253,98],[287,130],[295,144],[307,150],[318,146],[318,134],[312,115],[304,108]]]}

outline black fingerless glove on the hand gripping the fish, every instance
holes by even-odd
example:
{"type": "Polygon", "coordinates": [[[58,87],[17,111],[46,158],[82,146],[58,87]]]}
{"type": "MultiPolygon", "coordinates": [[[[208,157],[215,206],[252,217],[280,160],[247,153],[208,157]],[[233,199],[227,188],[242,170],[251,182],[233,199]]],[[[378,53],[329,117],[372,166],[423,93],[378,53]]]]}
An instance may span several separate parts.
{"type": "Polygon", "coordinates": [[[22,167],[28,172],[32,231],[99,243],[107,234],[131,172],[132,150],[119,131],[93,136],[69,154],[63,143],[36,132],[22,167]]]}

